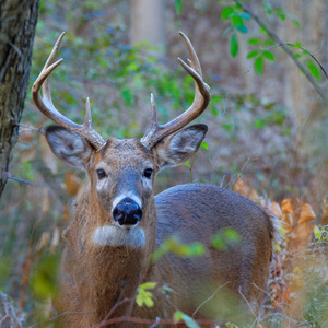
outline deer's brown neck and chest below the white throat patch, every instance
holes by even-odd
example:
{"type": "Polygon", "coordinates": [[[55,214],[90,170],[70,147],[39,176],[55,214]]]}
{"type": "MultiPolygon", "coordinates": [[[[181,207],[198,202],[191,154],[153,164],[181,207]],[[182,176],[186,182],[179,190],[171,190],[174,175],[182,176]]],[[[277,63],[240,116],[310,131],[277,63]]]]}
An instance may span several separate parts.
{"type": "MultiPolygon", "coordinates": [[[[133,298],[144,281],[155,247],[156,212],[152,198],[139,227],[144,233],[143,245],[98,245],[95,231],[108,212],[94,204],[90,192],[84,192],[78,202],[62,257],[62,289],[78,293],[74,296],[83,303],[80,311],[95,311],[102,318],[120,300],[133,298]]],[[[127,307],[121,311],[127,315],[127,307]]]]}

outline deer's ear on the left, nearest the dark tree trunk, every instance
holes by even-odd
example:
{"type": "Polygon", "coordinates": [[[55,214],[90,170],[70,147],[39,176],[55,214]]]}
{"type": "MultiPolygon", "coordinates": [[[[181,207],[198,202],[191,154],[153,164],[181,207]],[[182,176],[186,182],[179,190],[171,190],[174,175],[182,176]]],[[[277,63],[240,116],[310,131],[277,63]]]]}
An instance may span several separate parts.
{"type": "Polygon", "coordinates": [[[85,167],[93,148],[82,137],[66,128],[50,126],[46,129],[46,138],[58,159],[75,167],[85,167]]]}

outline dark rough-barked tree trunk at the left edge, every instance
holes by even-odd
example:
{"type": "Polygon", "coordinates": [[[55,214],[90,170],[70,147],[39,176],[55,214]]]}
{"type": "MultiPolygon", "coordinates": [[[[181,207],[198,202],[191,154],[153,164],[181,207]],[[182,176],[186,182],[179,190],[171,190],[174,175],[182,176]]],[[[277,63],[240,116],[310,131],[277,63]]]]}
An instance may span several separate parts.
{"type": "Polygon", "coordinates": [[[0,197],[28,87],[39,0],[0,1],[0,197]]]}

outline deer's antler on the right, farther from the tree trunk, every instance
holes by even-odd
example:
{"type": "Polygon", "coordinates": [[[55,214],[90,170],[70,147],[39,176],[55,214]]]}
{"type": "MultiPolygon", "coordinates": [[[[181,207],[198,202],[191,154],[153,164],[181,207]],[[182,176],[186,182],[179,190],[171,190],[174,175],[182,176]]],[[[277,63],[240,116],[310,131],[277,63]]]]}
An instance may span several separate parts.
{"type": "Polygon", "coordinates": [[[181,67],[194,78],[195,80],[195,97],[191,106],[184,112],[181,115],[173,119],[172,121],[159,126],[156,118],[156,106],[153,94],[151,94],[151,128],[142,137],[141,142],[148,148],[152,148],[164,137],[176,132],[181,129],[195,118],[197,118],[208,106],[211,95],[209,85],[203,82],[201,67],[197,54],[190,43],[189,38],[183,33],[179,32],[180,36],[185,40],[185,44],[188,48],[190,59],[187,59],[188,65],[178,57],[178,61],[181,67]]]}

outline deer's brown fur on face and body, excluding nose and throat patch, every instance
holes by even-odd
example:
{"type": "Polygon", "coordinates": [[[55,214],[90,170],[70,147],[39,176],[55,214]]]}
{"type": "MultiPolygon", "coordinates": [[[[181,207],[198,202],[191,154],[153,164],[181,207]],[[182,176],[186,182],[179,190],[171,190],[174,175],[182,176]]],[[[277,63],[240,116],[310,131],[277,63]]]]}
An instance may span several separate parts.
{"type": "MultiPolygon", "coordinates": [[[[157,282],[154,307],[140,308],[131,301],[117,307],[113,316],[172,318],[176,309],[191,316],[208,300],[195,317],[238,320],[239,312],[236,316],[231,308],[242,303],[243,297],[253,308],[258,307],[271,256],[272,222],[266,212],[239,195],[206,184],[173,187],[154,197],[142,177],[143,169],[152,167],[154,174],[149,181],[152,186],[163,163],[179,164],[197,151],[199,139],[189,150],[190,140],[186,133],[181,133],[180,139],[177,133],[174,147],[169,145],[169,137],[151,150],[134,139],[110,138],[99,152],[92,151],[90,156],[87,151],[87,157],[81,156],[74,164],[81,166],[81,161],[84,163],[90,184],[78,200],[74,219],[66,231],[57,308],[68,314],[62,316],[60,327],[92,327],[118,302],[126,297],[133,300],[138,285],[148,281],[157,282]],[[107,174],[103,181],[97,179],[98,168],[107,174]],[[94,231],[114,221],[113,200],[117,195],[130,191],[142,202],[139,227],[144,231],[145,246],[95,244],[94,231]],[[225,251],[211,244],[212,236],[223,227],[233,227],[242,236],[239,244],[225,251]],[[157,262],[151,262],[155,246],[172,234],[178,235],[184,243],[204,244],[204,256],[179,258],[167,254],[157,262]],[[221,290],[223,284],[226,285],[221,290]],[[168,285],[173,291],[163,294],[162,285],[168,285]]],[[[204,132],[201,133],[203,138],[204,132]]],[[[61,159],[62,149],[63,145],[60,147],[61,159]]],[[[56,153],[56,149],[54,151],[56,153]]]]}

